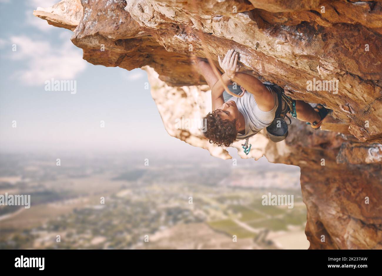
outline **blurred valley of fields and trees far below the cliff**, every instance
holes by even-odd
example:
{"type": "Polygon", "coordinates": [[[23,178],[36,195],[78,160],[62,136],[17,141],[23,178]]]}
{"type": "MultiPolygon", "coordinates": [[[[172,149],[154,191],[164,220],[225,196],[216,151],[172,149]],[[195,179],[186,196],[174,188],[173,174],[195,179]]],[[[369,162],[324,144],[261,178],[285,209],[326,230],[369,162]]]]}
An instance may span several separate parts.
{"type": "Polygon", "coordinates": [[[309,247],[299,168],[265,158],[3,153],[0,168],[0,194],[31,195],[0,206],[0,249],[309,247]],[[269,192],[293,208],[263,206],[269,192]]]}

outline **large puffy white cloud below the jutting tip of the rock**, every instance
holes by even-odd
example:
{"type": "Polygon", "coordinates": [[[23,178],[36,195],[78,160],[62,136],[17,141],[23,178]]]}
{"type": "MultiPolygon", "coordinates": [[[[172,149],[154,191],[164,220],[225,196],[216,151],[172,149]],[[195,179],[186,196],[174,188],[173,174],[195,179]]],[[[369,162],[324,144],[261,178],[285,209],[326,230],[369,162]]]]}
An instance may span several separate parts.
{"type": "Polygon", "coordinates": [[[74,79],[86,68],[82,53],[75,49],[68,38],[60,47],[27,36],[13,36],[10,43],[17,47],[16,52],[10,55],[11,60],[24,61],[23,69],[16,71],[12,77],[29,86],[44,85],[51,78],[74,79]]]}

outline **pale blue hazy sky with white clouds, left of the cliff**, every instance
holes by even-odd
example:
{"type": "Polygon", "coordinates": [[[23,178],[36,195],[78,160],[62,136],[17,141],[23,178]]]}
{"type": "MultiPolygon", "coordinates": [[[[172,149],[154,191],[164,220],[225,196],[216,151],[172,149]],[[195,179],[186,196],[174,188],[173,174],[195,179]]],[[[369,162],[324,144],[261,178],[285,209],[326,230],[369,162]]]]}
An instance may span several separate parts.
{"type": "Polygon", "coordinates": [[[72,44],[73,32],[33,16],[56,2],[0,0],[0,153],[148,150],[210,158],[167,134],[144,89],[145,71],[92,65],[72,44]],[[76,81],[76,94],[46,91],[52,78],[76,81]]]}

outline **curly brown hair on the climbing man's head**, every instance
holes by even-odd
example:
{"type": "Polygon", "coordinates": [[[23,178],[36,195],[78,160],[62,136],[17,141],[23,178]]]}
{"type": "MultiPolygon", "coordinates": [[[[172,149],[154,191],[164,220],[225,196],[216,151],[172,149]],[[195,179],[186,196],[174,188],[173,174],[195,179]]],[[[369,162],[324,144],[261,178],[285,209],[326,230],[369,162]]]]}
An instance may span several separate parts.
{"type": "Polygon", "coordinates": [[[229,147],[236,139],[236,119],[230,121],[228,119],[223,120],[219,113],[221,110],[217,109],[209,112],[204,118],[203,123],[207,124],[207,131],[204,132],[204,136],[209,140],[211,144],[219,147],[229,147]]]}

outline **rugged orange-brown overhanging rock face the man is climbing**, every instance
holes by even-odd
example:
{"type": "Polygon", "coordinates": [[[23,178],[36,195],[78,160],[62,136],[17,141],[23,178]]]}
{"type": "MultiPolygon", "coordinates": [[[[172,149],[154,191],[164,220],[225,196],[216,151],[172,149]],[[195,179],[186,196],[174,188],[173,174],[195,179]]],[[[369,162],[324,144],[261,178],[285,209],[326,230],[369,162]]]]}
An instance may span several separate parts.
{"type": "Polygon", "coordinates": [[[72,29],[72,42],[92,64],[146,66],[168,133],[220,158],[230,158],[225,148],[175,123],[210,110],[190,56],[217,64],[235,48],[243,70],[292,98],[325,103],[333,109],[326,131],[293,121],[283,142],[263,131],[250,139],[250,155],[241,142],[233,146],[243,158],[265,154],[301,168],[311,249],[381,249],[381,7],[353,0],[63,0],[34,14],[72,29]],[[174,110],[175,103],[184,108],[174,110]]]}

